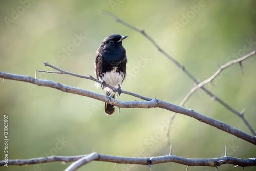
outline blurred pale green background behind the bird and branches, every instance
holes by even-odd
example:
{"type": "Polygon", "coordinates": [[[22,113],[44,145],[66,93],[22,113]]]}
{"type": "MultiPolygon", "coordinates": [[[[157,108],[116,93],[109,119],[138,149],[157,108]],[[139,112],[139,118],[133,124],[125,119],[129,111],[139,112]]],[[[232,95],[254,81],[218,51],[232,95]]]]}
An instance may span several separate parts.
{"type": "MultiPolygon", "coordinates": [[[[63,70],[94,76],[95,51],[111,34],[127,35],[127,78],[122,89],[177,104],[193,82],[140,33],[100,13],[107,10],[146,32],[196,78],[210,77],[219,65],[256,49],[255,1],[1,1],[0,71],[35,75],[49,62],[63,70]],[[82,37],[78,41],[77,37],[82,37]],[[250,42],[248,44],[247,42],[250,42]],[[245,47],[245,48],[244,48],[245,47]],[[66,51],[65,51],[66,49],[66,51]],[[237,56],[237,57],[236,57],[237,56]]],[[[206,88],[245,117],[256,129],[256,56],[222,73],[206,88]]],[[[105,94],[94,82],[69,75],[38,73],[73,87],[105,94]]],[[[139,100],[122,94],[122,101],[139,100]]],[[[186,108],[251,134],[242,120],[218,102],[196,92],[186,108]]],[[[104,113],[103,102],[64,94],[56,89],[5,80],[0,82],[0,114],[9,116],[9,159],[50,155],[83,155],[93,151],[116,156],[151,157],[168,153],[166,127],[172,112],[153,109],[121,109],[104,113]]],[[[3,138],[1,138],[1,142],[3,138]]],[[[215,158],[224,154],[255,157],[255,145],[197,120],[178,114],[170,131],[173,154],[186,158],[215,158]]],[[[3,159],[1,143],[1,160],[3,159]]],[[[1,170],[64,170],[71,163],[1,167],[1,170]]],[[[166,163],[152,170],[185,170],[166,163]]],[[[221,170],[242,170],[222,165],[221,170]]],[[[149,170],[148,166],[94,161],[79,170],[149,170]]],[[[189,167],[189,170],[216,170],[189,167]]],[[[248,167],[246,170],[256,170],[248,167]]]]}

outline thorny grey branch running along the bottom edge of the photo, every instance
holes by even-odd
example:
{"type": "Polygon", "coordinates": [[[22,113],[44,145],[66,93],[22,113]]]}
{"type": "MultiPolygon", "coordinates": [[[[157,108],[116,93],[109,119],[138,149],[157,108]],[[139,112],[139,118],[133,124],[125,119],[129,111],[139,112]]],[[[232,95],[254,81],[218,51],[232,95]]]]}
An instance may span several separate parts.
{"type": "MultiPolygon", "coordinates": [[[[16,159],[8,160],[8,165],[26,165],[26,164],[36,164],[36,163],[46,163],[54,161],[62,162],[74,162],[66,170],[76,170],[84,164],[91,161],[105,161],[112,163],[121,164],[141,164],[150,165],[160,164],[160,163],[179,163],[187,166],[211,166],[216,167],[222,164],[233,164],[241,167],[256,166],[256,158],[240,159],[236,157],[224,156],[219,158],[209,158],[209,159],[191,159],[183,158],[176,155],[165,155],[158,157],[120,157],[120,156],[110,156],[98,153],[91,153],[89,155],[81,156],[50,156],[50,157],[40,157],[33,159],[16,159]]],[[[0,161],[0,166],[5,165],[5,161],[0,161]]]]}

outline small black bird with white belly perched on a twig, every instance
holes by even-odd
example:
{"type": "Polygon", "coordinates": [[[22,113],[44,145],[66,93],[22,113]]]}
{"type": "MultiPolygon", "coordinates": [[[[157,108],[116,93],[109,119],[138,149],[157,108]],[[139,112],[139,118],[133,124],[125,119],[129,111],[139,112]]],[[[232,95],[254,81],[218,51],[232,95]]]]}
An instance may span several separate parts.
{"type": "MultiPolygon", "coordinates": [[[[117,88],[120,95],[120,85],[126,74],[126,50],[122,45],[122,40],[128,36],[112,34],[106,37],[99,46],[95,58],[96,78],[104,83],[117,88]]],[[[98,85],[99,86],[99,85],[98,85]]],[[[106,95],[115,98],[116,91],[106,87],[106,95]]],[[[113,105],[105,103],[105,112],[112,115],[115,112],[113,105]]]]}

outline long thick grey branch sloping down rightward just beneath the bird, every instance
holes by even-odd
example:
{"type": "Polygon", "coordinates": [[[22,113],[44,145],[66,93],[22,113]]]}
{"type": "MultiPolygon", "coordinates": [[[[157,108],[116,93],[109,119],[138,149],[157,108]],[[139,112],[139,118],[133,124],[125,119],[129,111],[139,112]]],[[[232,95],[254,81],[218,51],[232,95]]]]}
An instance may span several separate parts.
{"type": "MultiPolygon", "coordinates": [[[[55,89],[61,90],[66,93],[73,93],[73,94],[78,94],[81,96],[87,96],[87,97],[97,99],[97,100],[100,100],[100,101],[103,101],[106,103],[111,103],[112,105],[115,105],[118,108],[157,108],[157,107],[163,108],[163,109],[175,112],[175,113],[180,113],[183,115],[193,117],[193,118],[199,120],[200,122],[204,122],[208,125],[214,126],[217,129],[225,131],[229,134],[232,134],[238,138],[241,138],[245,141],[248,141],[248,142],[256,145],[256,137],[253,137],[253,136],[246,134],[238,129],[235,129],[234,127],[232,127],[226,123],[223,123],[221,121],[204,116],[192,109],[182,108],[180,106],[177,106],[177,105],[174,105],[171,103],[167,103],[167,102],[159,100],[159,99],[147,98],[150,100],[148,100],[148,101],[119,101],[119,100],[116,100],[109,96],[101,95],[101,94],[94,93],[94,92],[80,89],[80,88],[70,87],[65,84],[60,84],[60,83],[50,81],[50,80],[40,80],[40,79],[35,79],[35,78],[29,77],[29,76],[9,74],[9,73],[5,73],[5,72],[1,72],[1,71],[0,71],[0,77],[4,78],[4,79],[29,82],[29,83],[36,84],[38,86],[51,87],[51,88],[55,88],[55,89]]],[[[86,78],[86,77],[84,77],[84,78],[86,78]]],[[[91,76],[88,79],[92,80],[91,76]]],[[[98,81],[96,81],[96,82],[98,82],[98,81]]],[[[124,91],[124,92],[126,92],[126,91],[124,91]]],[[[134,94],[134,93],[129,92],[127,94],[134,94]]],[[[140,96],[140,95],[137,95],[137,96],[140,96]]]]}

